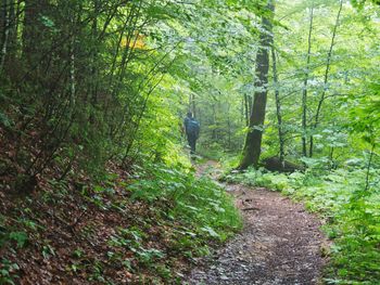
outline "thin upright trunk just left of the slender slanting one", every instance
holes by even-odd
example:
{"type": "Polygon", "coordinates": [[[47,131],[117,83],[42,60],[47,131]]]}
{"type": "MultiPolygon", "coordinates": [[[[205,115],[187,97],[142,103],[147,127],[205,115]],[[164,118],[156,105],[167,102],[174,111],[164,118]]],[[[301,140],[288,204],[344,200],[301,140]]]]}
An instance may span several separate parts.
{"type": "Polygon", "coordinates": [[[311,8],[311,22],[308,28],[307,38],[307,59],[306,59],[306,72],[304,79],[304,87],[302,91],[302,154],[307,156],[307,86],[311,65],[311,52],[312,52],[312,34],[313,34],[313,21],[314,21],[314,2],[311,8]]]}

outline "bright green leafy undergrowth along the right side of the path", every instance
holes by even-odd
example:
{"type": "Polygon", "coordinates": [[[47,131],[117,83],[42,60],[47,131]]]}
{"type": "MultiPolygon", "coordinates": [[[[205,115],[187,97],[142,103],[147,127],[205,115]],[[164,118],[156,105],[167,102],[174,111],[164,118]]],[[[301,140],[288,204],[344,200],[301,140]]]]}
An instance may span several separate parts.
{"type": "Polygon", "coordinates": [[[229,182],[281,191],[303,200],[326,219],[325,231],[333,241],[327,284],[379,284],[380,281],[380,189],[379,171],[365,191],[366,171],[309,169],[291,174],[249,170],[227,174],[229,182]]]}

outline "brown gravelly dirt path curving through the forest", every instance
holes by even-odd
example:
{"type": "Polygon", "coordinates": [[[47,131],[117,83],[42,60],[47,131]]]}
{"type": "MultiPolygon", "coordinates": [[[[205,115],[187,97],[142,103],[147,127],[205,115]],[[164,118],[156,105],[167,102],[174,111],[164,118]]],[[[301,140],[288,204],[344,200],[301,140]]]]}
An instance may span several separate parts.
{"type": "MultiPolygon", "coordinates": [[[[215,179],[214,161],[198,166],[198,174],[215,179]]],[[[277,192],[241,184],[225,185],[241,210],[244,228],[214,257],[200,260],[189,284],[321,284],[327,243],[321,222],[277,192]]]]}

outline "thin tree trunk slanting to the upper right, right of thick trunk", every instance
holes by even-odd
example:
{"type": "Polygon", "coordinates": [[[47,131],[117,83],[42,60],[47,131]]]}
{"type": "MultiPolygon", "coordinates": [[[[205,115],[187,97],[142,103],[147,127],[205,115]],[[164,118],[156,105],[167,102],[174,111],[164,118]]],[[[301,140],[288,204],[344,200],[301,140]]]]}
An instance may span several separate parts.
{"type": "MultiPolygon", "coordinates": [[[[326,63],[326,70],[325,70],[325,77],[324,77],[324,91],[320,95],[319,102],[318,102],[318,106],[317,106],[317,111],[315,114],[315,121],[313,125],[313,130],[315,130],[318,125],[319,125],[319,117],[320,117],[320,111],[322,107],[322,104],[325,102],[326,99],[326,92],[327,92],[327,82],[329,79],[329,74],[330,74],[330,67],[331,67],[331,56],[332,56],[332,50],[333,50],[333,46],[335,44],[335,38],[337,38],[337,30],[338,30],[338,26],[339,26],[339,22],[340,22],[340,16],[342,13],[342,8],[343,8],[343,0],[340,1],[340,7],[339,7],[339,11],[338,11],[338,15],[337,15],[337,20],[335,20],[335,25],[333,27],[333,31],[332,31],[332,38],[331,38],[331,44],[330,44],[330,49],[329,52],[327,54],[327,63],[326,63]]],[[[311,145],[309,145],[309,150],[308,150],[308,155],[309,157],[313,157],[314,154],[314,138],[313,134],[311,135],[311,145]]]]}

